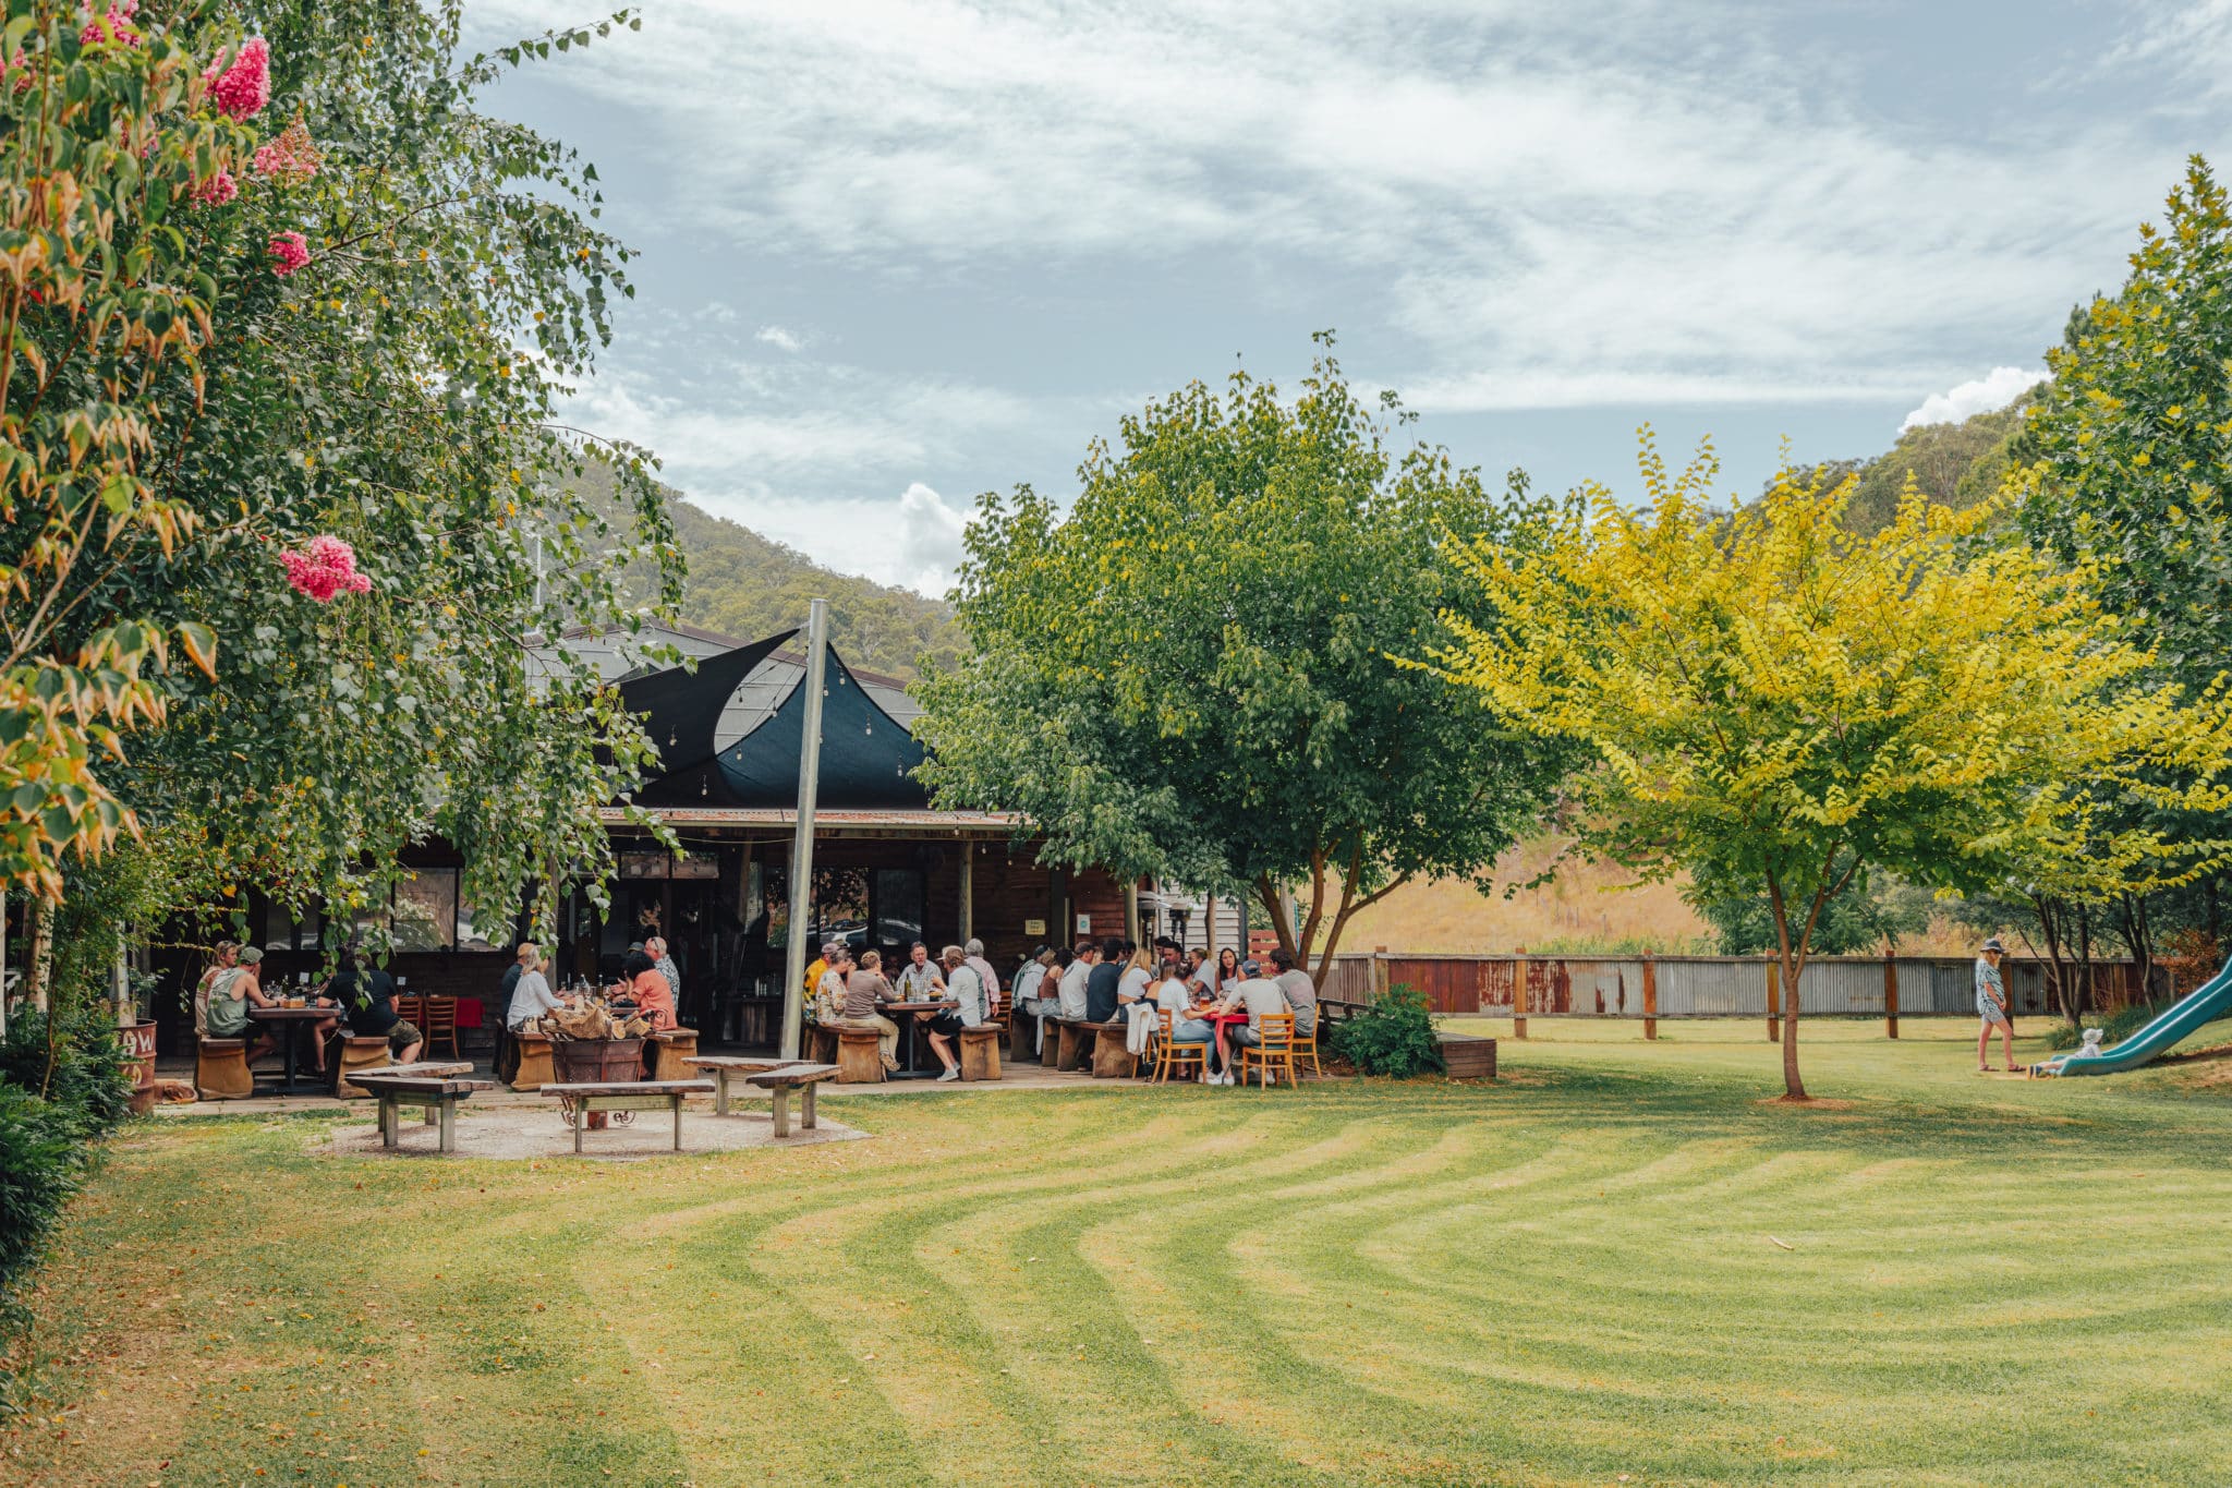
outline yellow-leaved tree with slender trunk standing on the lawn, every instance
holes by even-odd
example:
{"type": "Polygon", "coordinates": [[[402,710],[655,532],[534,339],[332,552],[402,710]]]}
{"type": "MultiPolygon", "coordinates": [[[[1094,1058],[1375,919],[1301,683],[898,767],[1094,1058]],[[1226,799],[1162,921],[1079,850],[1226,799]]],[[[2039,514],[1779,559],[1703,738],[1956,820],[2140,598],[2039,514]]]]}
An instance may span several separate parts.
{"type": "MultiPolygon", "coordinates": [[[[1850,875],[2002,883],[2154,767],[2223,767],[2216,700],[2181,709],[2140,680],[2149,656],[2087,567],[1986,542],[1998,500],[1955,513],[1908,489],[1859,538],[1839,520],[1853,480],[1783,475],[1728,511],[1710,446],[1674,473],[1645,433],[1641,466],[1641,511],[1589,486],[1542,553],[1460,549],[1491,616],[1449,616],[1460,642],[1435,663],[1596,750],[1576,781],[1589,850],[1757,883],[1786,988],[1850,875]]],[[[1806,1100],[1786,1004],[1783,1086],[1806,1100]]]]}

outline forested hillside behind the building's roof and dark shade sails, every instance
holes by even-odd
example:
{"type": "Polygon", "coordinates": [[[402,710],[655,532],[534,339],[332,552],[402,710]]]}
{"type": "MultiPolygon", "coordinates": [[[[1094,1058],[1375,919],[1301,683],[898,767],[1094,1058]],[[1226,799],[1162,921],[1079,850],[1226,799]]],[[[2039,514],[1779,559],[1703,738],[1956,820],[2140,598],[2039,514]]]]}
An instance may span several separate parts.
{"type": "MultiPolygon", "coordinates": [[[[585,486],[598,480],[609,495],[609,475],[591,466],[585,486]]],[[[690,504],[681,491],[667,491],[667,506],[690,564],[683,589],[690,625],[754,640],[806,625],[808,600],[819,596],[830,602],[830,642],[857,667],[913,678],[924,658],[960,658],[962,634],[944,600],[824,569],[792,547],[690,504]]]]}

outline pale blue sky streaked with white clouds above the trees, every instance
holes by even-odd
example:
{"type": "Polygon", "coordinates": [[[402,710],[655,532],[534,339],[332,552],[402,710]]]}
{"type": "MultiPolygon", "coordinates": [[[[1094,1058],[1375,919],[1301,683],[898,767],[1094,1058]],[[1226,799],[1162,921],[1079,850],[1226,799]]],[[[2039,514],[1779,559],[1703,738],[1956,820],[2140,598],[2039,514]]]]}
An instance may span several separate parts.
{"type": "MultiPolygon", "coordinates": [[[[1415,433],[1875,455],[2002,406],[2228,156],[2232,0],[645,0],[491,107],[643,252],[576,417],[942,593],[984,491],[1335,330],[1415,433]]],[[[596,7],[469,0],[475,45],[596,7]]],[[[2232,161],[2225,161],[2232,167],[2232,161]]]]}

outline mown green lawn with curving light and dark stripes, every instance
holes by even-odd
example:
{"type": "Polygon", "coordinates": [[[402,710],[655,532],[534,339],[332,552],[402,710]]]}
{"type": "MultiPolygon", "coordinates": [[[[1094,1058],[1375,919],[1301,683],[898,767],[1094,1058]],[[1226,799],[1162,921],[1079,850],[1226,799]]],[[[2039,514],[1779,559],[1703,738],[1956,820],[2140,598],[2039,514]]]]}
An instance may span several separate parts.
{"type": "Polygon", "coordinates": [[[1808,1024],[1808,1111],[1752,1024],[1536,1022],[1495,1086],[833,1098],[875,1140],[645,1165],[165,1122],[0,1481],[2232,1481],[2232,1066],[1906,1031],[1808,1024]]]}

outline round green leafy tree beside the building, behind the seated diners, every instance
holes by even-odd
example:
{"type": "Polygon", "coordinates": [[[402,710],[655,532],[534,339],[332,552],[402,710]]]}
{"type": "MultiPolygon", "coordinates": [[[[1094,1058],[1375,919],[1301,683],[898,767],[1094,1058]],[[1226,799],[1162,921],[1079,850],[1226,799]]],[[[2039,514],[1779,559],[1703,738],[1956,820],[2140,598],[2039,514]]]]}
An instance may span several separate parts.
{"type": "Polygon", "coordinates": [[[1252,892],[1312,973],[1411,879],[1484,888],[1576,756],[1397,663],[1466,587],[1449,533],[1536,520],[1524,480],[1502,502],[1397,448],[1399,404],[1319,344],[1292,402],[1237,370],[1125,417],[1067,515],[987,495],[971,651],[917,685],[940,805],[1016,810],[1069,866],[1252,892]]]}

